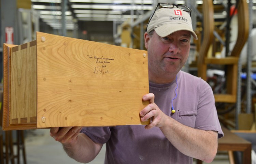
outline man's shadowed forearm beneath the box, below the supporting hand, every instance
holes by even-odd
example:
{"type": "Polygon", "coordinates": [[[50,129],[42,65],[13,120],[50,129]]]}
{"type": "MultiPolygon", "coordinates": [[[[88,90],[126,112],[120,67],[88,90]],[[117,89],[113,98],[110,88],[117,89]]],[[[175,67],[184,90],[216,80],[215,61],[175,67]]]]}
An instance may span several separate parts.
{"type": "Polygon", "coordinates": [[[101,147],[102,144],[94,143],[83,133],[78,135],[77,142],[74,145],[63,144],[63,148],[69,157],[83,163],[92,161],[99,153],[101,147]]]}

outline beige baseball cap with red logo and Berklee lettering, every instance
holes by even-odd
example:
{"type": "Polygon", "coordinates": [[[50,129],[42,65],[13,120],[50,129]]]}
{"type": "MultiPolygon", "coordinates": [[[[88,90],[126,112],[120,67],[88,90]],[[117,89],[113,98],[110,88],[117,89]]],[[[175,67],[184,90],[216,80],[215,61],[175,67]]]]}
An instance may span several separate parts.
{"type": "Polygon", "coordinates": [[[152,30],[155,30],[161,37],[168,36],[176,31],[187,30],[197,40],[197,35],[192,28],[190,14],[175,6],[173,8],[162,7],[155,11],[147,26],[147,32],[152,30]]]}

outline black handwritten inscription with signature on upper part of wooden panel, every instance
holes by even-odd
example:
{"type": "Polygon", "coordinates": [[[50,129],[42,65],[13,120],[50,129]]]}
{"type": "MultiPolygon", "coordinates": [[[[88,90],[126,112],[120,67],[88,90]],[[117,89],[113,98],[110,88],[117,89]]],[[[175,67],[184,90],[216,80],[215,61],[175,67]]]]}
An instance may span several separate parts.
{"type": "Polygon", "coordinates": [[[100,64],[100,66],[95,66],[94,68],[94,74],[106,74],[106,73],[112,73],[108,70],[108,65],[111,64],[111,62],[114,60],[113,58],[106,58],[104,56],[98,57],[95,55],[87,55],[89,59],[95,60],[95,63],[100,64]]]}

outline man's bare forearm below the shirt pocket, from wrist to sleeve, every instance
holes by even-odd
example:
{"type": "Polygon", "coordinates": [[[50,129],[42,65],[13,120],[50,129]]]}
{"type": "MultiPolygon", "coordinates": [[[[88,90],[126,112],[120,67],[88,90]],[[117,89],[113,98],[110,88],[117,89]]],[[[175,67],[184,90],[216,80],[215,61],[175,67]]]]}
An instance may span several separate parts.
{"type": "Polygon", "coordinates": [[[185,126],[168,117],[160,127],[167,139],[187,156],[211,162],[217,152],[217,132],[204,131],[185,126]]]}

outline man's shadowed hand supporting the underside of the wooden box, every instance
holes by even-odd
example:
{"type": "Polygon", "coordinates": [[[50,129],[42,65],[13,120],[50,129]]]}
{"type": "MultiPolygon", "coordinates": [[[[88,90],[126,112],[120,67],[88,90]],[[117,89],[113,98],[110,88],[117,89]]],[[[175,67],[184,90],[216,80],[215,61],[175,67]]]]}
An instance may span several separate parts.
{"type": "Polygon", "coordinates": [[[72,146],[77,142],[82,127],[55,127],[51,128],[50,135],[63,145],[72,146]]]}

